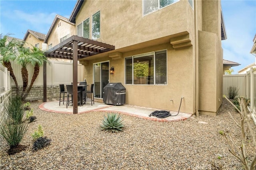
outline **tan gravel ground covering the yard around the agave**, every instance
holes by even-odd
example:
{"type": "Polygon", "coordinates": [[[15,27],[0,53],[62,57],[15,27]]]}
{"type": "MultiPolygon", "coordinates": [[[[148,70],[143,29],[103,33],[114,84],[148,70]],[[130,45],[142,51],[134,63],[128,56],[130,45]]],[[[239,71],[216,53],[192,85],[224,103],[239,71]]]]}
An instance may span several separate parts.
{"type": "MultiPolygon", "coordinates": [[[[1,139],[1,170],[242,169],[237,158],[228,151],[224,137],[218,133],[226,131],[234,139],[239,139],[240,135],[228,111],[237,120],[240,116],[225,99],[216,117],[200,115],[180,122],[155,122],[122,115],[125,129],[121,133],[100,130],[102,112],[51,113],[38,109],[40,104],[32,103],[37,119],[30,123],[21,143],[28,146],[26,150],[9,156],[8,145],[1,139]],[[44,136],[52,142],[48,147],[32,152],[30,135],[38,125],[42,125],[44,136]]],[[[238,141],[236,143],[240,145],[238,141]]],[[[255,147],[246,143],[246,149],[251,159],[255,147]]]]}

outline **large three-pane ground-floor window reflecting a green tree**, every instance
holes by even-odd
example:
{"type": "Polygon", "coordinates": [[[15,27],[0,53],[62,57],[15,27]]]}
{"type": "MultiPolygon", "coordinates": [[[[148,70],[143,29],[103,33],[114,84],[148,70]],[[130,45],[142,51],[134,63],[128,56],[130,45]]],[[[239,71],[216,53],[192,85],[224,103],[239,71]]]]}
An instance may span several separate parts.
{"type": "Polygon", "coordinates": [[[166,50],[127,57],[126,84],[166,84],[166,50]]]}

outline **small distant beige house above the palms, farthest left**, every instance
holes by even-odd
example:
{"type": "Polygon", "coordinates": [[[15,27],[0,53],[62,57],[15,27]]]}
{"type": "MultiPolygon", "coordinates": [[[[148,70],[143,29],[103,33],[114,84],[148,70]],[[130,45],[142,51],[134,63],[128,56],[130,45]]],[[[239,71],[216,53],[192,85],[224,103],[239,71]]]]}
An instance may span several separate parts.
{"type": "Polygon", "coordinates": [[[26,47],[32,49],[32,47],[37,47],[38,49],[41,49],[42,51],[47,50],[47,44],[44,43],[46,35],[43,33],[39,33],[36,31],[32,31],[28,29],[26,32],[23,41],[26,42],[26,47]]]}

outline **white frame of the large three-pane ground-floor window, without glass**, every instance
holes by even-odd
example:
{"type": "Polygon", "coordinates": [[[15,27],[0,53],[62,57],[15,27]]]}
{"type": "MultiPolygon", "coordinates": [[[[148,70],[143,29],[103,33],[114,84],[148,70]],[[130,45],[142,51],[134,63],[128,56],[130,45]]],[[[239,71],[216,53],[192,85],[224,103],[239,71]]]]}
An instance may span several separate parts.
{"type": "Polygon", "coordinates": [[[124,84],[125,85],[168,85],[168,50],[167,49],[162,49],[162,50],[157,50],[157,51],[151,51],[148,53],[143,53],[143,54],[139,54],[139,55],[132,55],[132,56],[128,56],[124,58],[124,84]],[[166,52],[166,83],[164,84],[156,84],[156,52],[159,51],[165,51],[166,52]],[[134,57],[137,56],[143,56],[143,55],[147,55],[150,53],[154,53],[154,84],[134,84],[134,57]],[[132,83],[127,83],[126,82],[126,59],[131,58],[132,59],[132,83]]]}

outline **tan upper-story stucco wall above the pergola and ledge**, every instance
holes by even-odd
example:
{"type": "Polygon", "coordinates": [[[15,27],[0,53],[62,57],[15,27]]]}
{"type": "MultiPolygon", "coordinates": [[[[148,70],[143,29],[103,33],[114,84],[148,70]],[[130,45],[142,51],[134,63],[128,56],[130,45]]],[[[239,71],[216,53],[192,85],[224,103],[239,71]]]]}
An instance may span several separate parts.
{"type": "MultiPolygon", "coordinates": [[[[180,0],[142,16],[142,1],[110,0],[104,3],[101,0],[84,1],[76,16],[76,25],[90,17],[91,28],[92,15],[100,11],[100,38],[97,41],[115,45],[115,48],[119,49],[189,31],[188,22],[193,18],[193,15],[188,15],[189,10],[192,11],[192,8],[188,1],[180,0]]],[[[90,38],[91,36],[92,30],[90,29],[90,38]]]]}

